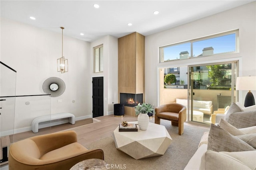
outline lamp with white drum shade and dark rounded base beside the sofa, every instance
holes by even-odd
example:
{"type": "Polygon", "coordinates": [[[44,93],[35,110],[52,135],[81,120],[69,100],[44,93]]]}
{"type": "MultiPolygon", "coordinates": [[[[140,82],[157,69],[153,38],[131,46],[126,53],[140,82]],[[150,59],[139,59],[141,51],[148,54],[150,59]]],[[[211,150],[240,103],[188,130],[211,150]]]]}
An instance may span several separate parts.
{"type": "Polygon", "coordinates": [[[256,76],[237,77],[236,90],[249,90],[244,100],[244,107],[255,105],[251,90],[256,90],[256,76]]]}

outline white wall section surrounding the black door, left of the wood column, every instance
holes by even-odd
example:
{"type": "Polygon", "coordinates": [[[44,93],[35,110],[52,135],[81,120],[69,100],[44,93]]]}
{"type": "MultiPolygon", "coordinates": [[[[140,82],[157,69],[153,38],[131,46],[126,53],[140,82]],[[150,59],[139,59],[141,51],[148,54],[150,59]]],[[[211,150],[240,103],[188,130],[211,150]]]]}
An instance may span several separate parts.
{"type": "MultiPolygon", "coordinates": [[[[92,72],[91,77],[103,77],[104,115],[110,115],[114,114],[114,104],[118,102],[118,39],[106,35],[105,37],[92,42],[91,56],[93,56],[93,47],[101,44],[103,44],[104,71],[101,73],[94,73],[93,57],[90,60],[90,71],[92,72]]],[[[92,94],[92,92],[90,94],[92,94]]]]}

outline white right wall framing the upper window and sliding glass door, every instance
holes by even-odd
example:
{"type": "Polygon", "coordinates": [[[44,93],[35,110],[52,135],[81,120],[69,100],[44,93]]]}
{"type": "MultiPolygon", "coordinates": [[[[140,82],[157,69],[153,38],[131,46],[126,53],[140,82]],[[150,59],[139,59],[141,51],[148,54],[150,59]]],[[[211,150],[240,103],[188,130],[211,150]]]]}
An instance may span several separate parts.
{"type": "MultiPolygon", "coordinates": [[[[239,60],[239,76],[256,76],[256,2],[240,6],[219,14],[196,20],[166,31],[146,36],[145,39],[145,98],[148,103],[158,106],[157,68],[182,66],[214,61],[239,60]],[[216,55],[159,63],[158,47],[205,37],[216,33],[239,29],[239,53],[216,55]],[[152,69],[153,68],[153,69],[152,69]],[[154,82],[154,83],[152,83],[154,82]]],[[[252,91],[253,92],[253,91],[252,91]]],[[[240,92],[239,101],[244,102],[246,91],[240,92]]],[[[256,96],[256,92],[253,92],[256,96]]]]}

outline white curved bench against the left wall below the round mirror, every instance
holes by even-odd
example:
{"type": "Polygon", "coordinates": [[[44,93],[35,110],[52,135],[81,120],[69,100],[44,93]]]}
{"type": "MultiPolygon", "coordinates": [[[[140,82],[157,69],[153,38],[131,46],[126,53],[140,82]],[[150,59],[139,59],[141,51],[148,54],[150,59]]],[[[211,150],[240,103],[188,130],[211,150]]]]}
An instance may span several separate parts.
{"type": "Polygon", "coordinates": [[[40,116],[40,117],[36,117],[32,121],[32,124],[31,124],[32,131],[34,133],[38,133],[39,123],[41,122],[52,121],[52,120],[63,119],[63,118],[68,118],[69,123],[73,125],[76,123],[76,119],[75,119],[76,117],[72,113],[57,113],[52,115],[40,116]]]}

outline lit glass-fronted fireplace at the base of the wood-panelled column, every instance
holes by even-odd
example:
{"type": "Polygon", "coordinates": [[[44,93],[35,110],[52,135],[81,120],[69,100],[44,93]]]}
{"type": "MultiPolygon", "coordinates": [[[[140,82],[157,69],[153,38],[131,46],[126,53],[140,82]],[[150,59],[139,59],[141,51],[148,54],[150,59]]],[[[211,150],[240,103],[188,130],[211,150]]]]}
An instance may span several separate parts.
{"type": "Polygon", "coordinates": [[[143,94],[120,93],[120,104],[134,107],[143,102],[143,94]]]}

